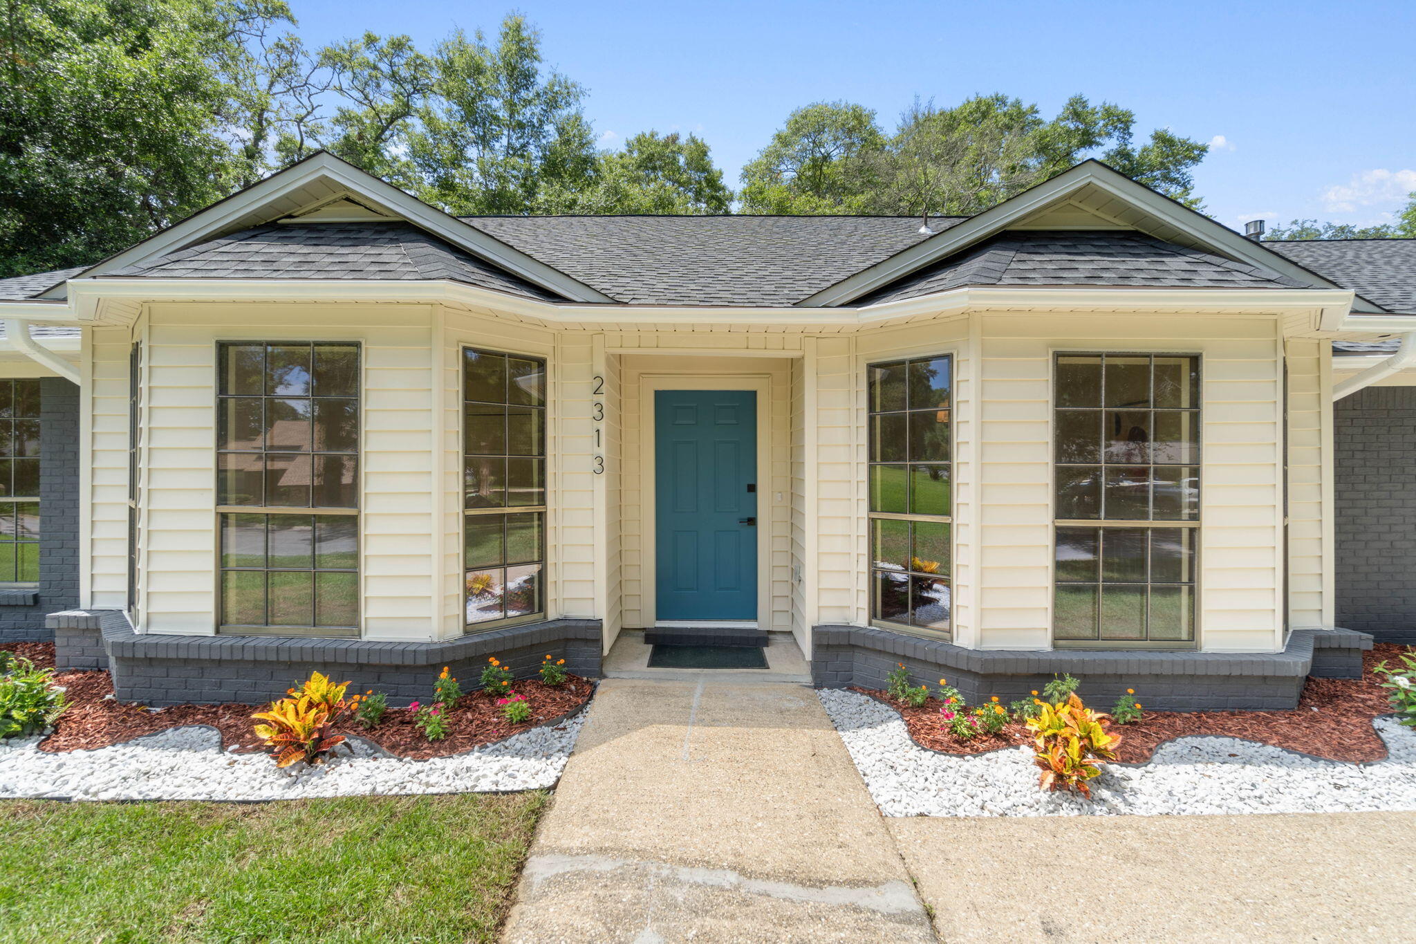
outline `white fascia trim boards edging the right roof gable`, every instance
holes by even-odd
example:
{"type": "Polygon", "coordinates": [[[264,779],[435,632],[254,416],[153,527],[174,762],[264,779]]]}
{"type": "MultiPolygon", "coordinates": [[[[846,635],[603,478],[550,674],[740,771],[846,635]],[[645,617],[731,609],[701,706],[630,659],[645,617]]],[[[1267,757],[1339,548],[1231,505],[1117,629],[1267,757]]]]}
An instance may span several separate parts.
{"type": "MultiPolygon", "coordinates": [[[[1010,224],[1042,209],[1048,204],[1065,200],[1069,194],[1087,184],[1104,190],[1117,200],[1134,204],[1150,215],[1164,219],[1165,224],[1180,229],[1192,239],[1214,246],[1225,255],[1233,256],[1257,269],[1267,269],[1301,282],[1311,282],[1325,289],[1341,289],[1337,283],[1304,269],[1296,262],[1280,256],[1277,252],[1264,249],[1263,243],[1247,239],[1204,214],[1181,207],[1168,197],[1157,194],[1150,187],[1137,184],[1104,164],[1087,161],[1018,194],[1012,200],[986,209],[977,217],[950,226],[937,236],[915,243],[909,249],[875,263],[869,269],[862,269],[854,276],[797,301],[797,304],[801,307],[848,304],[875,289],[884,287],[912,272],[918,272],[937,259],[950,256],[1007,229],[1010,224]]],[[[1365,299],[1357,299],[1354,304],[1358,311],[1381,311],[1379,307],[1365,299]]]]}

